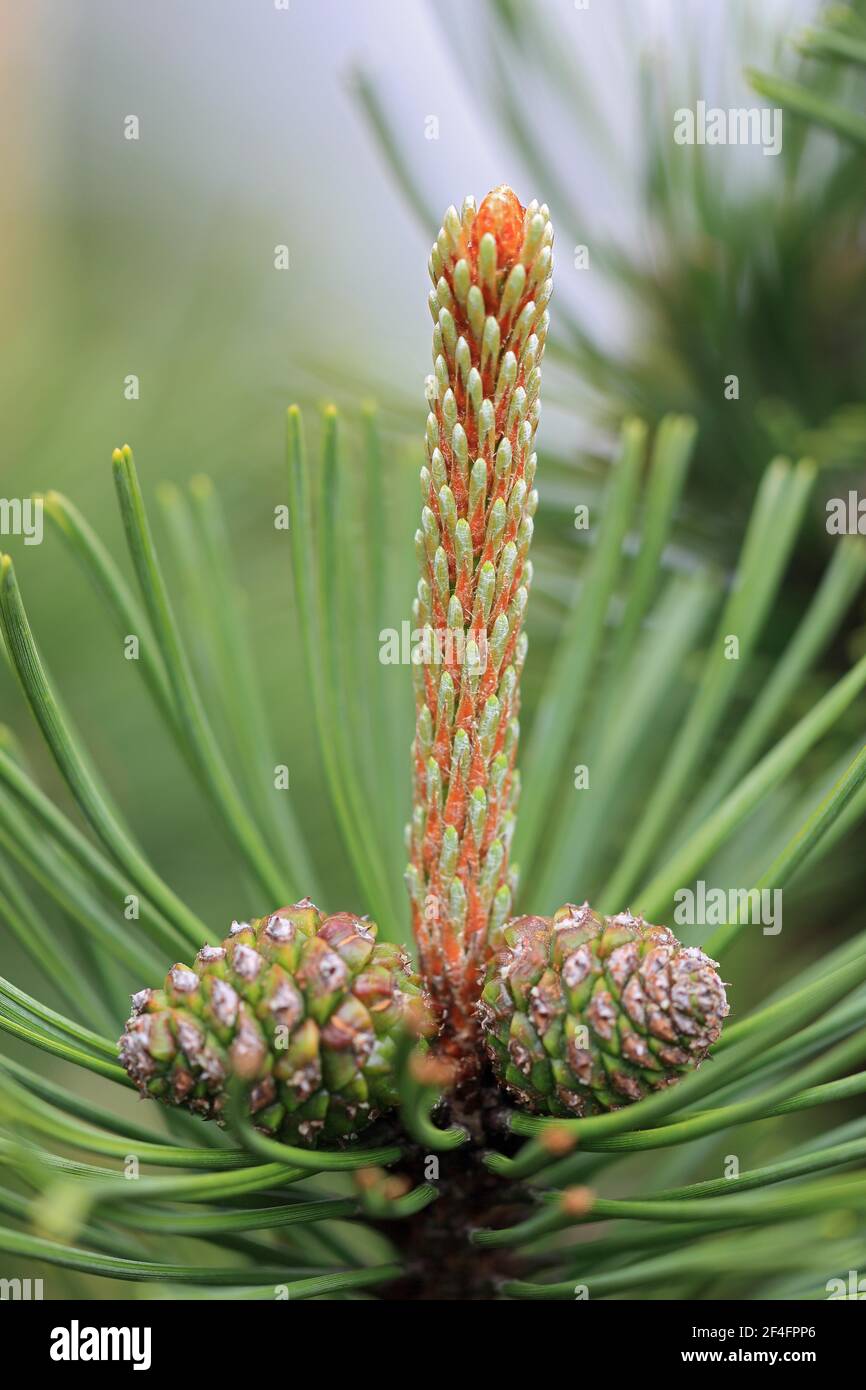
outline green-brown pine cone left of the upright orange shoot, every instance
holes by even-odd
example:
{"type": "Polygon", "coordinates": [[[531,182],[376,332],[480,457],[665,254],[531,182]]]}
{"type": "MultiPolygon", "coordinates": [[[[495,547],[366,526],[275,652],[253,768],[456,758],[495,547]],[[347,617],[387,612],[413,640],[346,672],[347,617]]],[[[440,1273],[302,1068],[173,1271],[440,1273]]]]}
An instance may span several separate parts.
{"type": "Polygon", "coordinates": [[[120,1058],[142,1095],[220,1118],[246,1083],[256,1126],[291,1144],[350,1138],[398,1102],[398,1036],[431,1013],[399,947],[375,923],[309,901],[232,923],[163,990],[140,990],[120,1058]]]}

